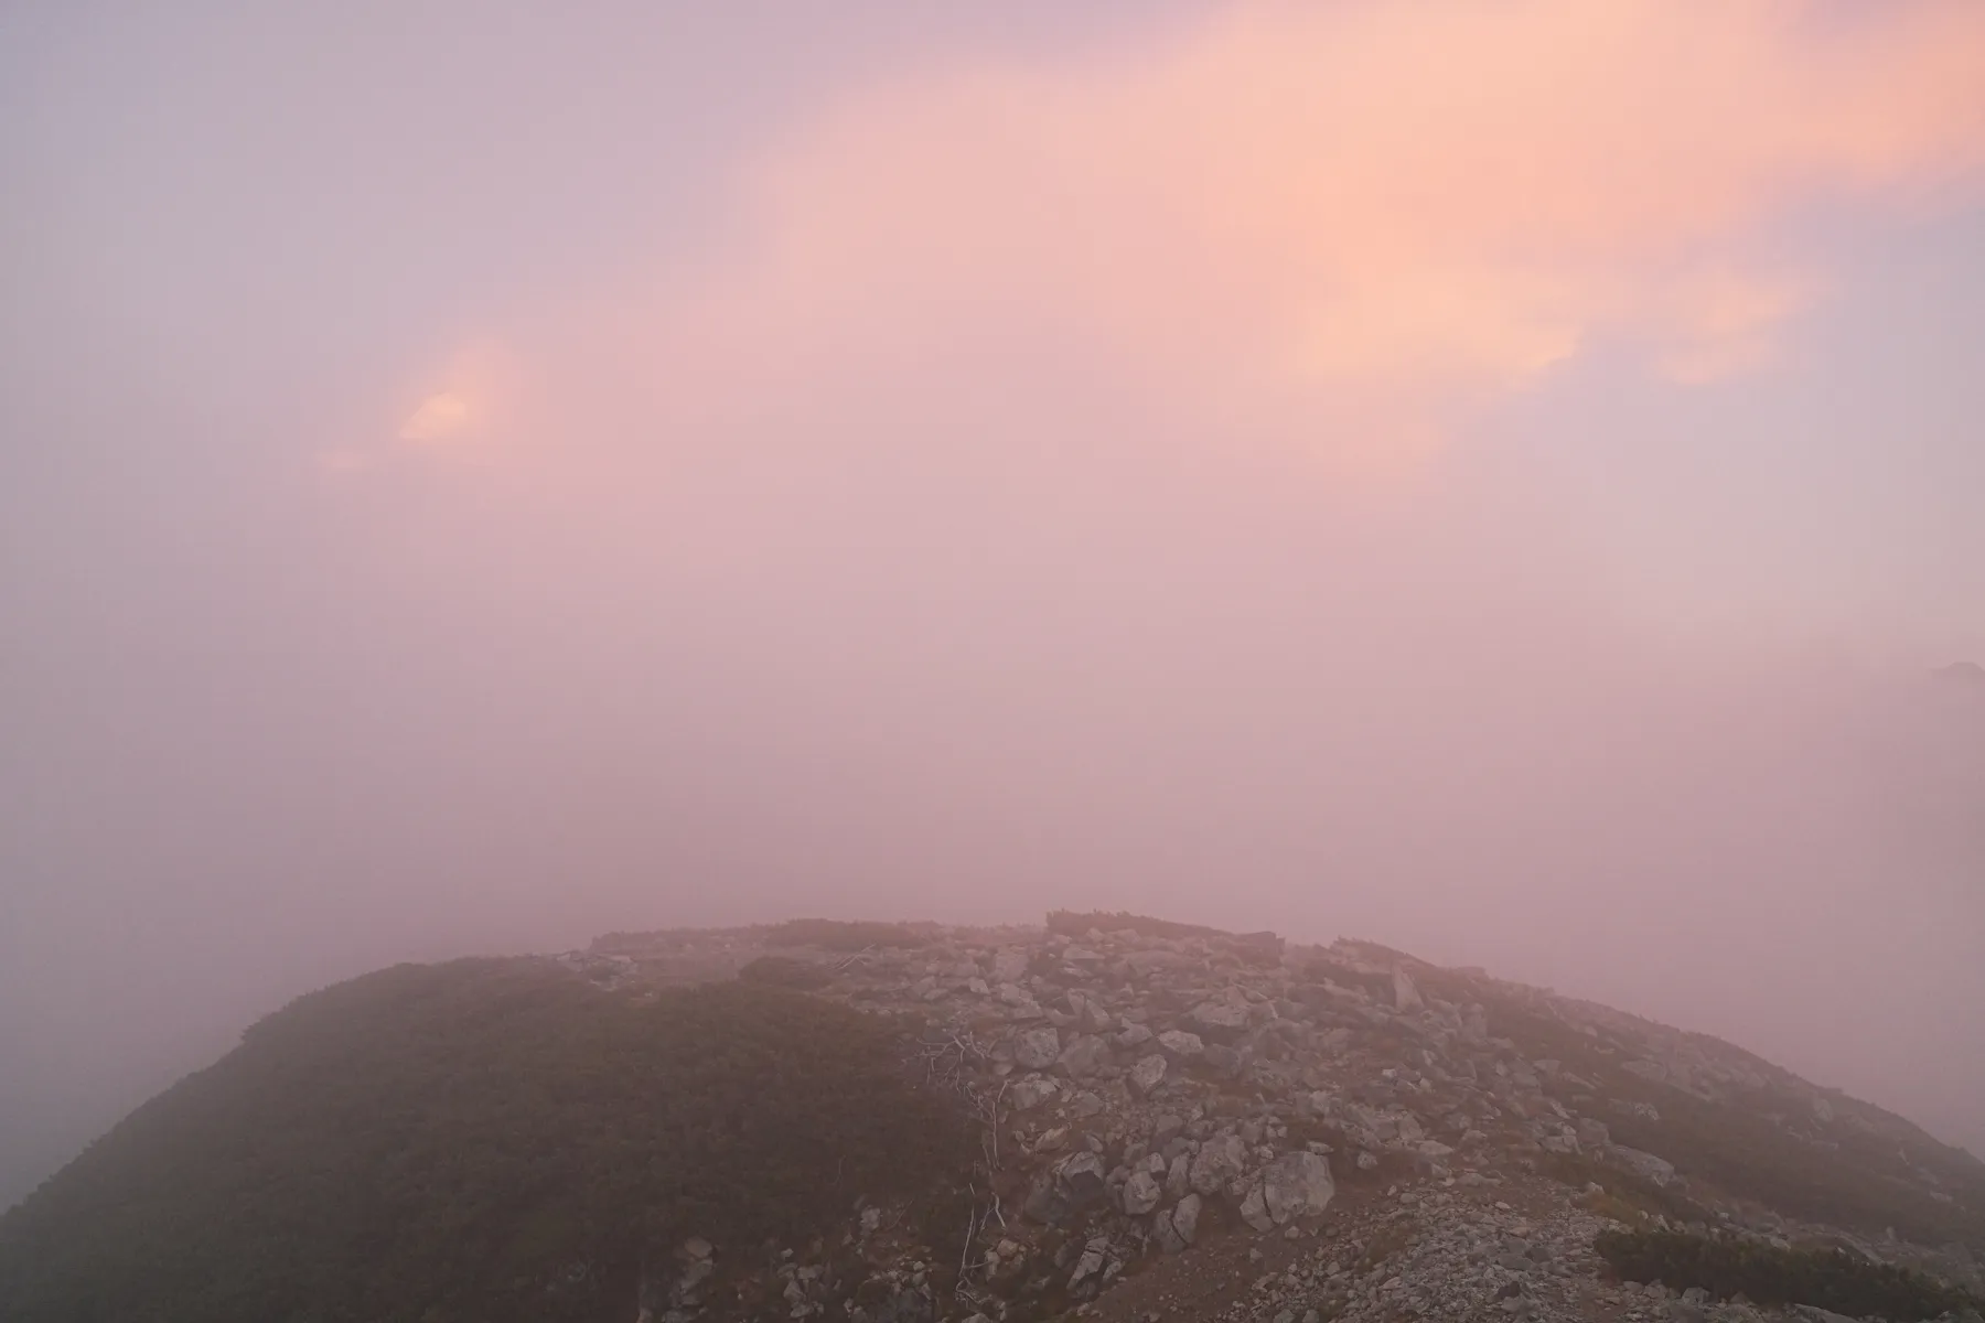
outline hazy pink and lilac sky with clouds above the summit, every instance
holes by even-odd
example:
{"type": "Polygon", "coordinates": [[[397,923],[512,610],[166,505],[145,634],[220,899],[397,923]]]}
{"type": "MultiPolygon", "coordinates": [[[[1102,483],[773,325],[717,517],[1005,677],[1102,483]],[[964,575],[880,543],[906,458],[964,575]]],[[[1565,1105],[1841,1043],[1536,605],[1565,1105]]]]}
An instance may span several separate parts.
{"type": "Polygon", "coordinates": [[[1366,936],[1985,1152],[1985,8],[0,8],[0,1204],[407,958],[1366,936]]]}

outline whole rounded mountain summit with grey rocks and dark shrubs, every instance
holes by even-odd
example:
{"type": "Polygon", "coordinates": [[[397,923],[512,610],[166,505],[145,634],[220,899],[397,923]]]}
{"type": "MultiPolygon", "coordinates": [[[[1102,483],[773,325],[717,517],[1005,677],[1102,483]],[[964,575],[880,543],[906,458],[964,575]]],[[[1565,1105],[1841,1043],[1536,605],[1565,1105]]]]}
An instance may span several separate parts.
{"type": "Polygon", "coordinates": [[[0,1218],[8,1323],[1975,1317],[1985,1164],[1364,940],[796,920],[312,994],[0,1218]]]}

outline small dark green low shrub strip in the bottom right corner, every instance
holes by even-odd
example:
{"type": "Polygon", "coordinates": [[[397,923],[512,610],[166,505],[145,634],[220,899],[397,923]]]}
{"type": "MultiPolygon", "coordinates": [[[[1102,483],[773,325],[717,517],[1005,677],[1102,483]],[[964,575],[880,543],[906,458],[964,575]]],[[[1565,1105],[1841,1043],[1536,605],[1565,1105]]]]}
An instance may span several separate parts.
{"type": "Polygon", "coordinates": [[[1596,1246],[1622,1279],[1703,1287],[1721,1299],[1741,1293],[1761,1305],[1818,1305],[1896,1323],[1985,1307],[1969,1291],[1846,1250],[1779,1250],[1681,1232],[1602,1232],[1596,1246]]]}

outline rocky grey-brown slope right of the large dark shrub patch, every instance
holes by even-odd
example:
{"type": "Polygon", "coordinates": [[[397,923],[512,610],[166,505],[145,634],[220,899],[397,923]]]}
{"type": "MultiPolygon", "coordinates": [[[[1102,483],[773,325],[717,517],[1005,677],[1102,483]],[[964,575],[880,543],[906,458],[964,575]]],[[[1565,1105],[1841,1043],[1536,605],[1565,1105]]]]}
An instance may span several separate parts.
{"type": "MultiPolygon", "coordinates": [[[[782,1317],[1735,1323],[1985,1289],[1973,1156],[1729,1043],[1370,942],[1052,914],[611,934],[566,960],[633,998],[736,972],[919,1018],[911,1067],[979,1135],[961,1226],[939,1248],[861,1206],[840,1250],[863,1279],[790,1248],[782,1317]],[[1622,1279],[1608,1230],[1745,1267],[1622,1279]],[[1908,1285],[1814,1285],[1842,1271],[1908,1285]]],[[[641,1315],[699,1317],[725,1256],[683,1248],[641,1315]]]]}

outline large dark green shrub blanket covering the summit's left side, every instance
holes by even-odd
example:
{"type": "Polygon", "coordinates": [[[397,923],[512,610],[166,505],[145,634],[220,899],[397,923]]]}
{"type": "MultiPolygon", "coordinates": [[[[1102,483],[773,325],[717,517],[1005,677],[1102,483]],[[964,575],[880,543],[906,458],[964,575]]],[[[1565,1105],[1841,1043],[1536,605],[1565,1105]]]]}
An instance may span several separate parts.
{"type": "Polygon", "coordinates": [[[689,1236],[758,1262],[861,1196],[949,1200],[971,1139],[901,1061],[889,1022],[760,982],[383,970],[254,1025],[0,1218],[0,1319],[633,1317],[689,1236]]]}

